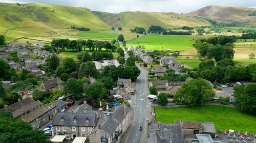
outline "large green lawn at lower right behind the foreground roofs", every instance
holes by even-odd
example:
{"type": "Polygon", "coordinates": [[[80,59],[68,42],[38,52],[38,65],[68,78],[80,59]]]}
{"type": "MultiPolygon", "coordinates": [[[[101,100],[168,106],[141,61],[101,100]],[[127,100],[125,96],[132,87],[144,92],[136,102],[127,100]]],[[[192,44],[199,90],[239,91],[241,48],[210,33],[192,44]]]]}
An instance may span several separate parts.
{"type": "Polygon", "coordinates": [[[174,124],[174,120],[214,122],[216,131],[229,130],[256,133],[256,116],[236,108],[204,105],[196,107],[155,108],[158,123],[174,124]]]}

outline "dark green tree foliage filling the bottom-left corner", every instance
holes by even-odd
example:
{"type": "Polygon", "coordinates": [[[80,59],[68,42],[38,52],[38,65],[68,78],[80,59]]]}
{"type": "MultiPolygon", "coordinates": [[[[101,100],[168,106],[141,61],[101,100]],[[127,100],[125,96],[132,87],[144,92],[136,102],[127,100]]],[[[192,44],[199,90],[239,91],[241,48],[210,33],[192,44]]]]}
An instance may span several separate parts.
{"type": "Polygon", "coordinates": [[[10,111],[0,112],[1,142],[50,143],[43,131],[33,130],[22,120],[14,120],[10,111]]]}

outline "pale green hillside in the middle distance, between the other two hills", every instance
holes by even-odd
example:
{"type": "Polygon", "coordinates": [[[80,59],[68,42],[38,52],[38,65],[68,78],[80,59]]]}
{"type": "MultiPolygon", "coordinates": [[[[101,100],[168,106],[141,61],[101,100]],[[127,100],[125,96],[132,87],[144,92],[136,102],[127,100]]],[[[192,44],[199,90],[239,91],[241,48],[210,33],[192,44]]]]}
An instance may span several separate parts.
{"type": "Polygon", "coordinates": [[[105,22],[110,26],[121,26],[123,30],[131,30],[131,28],[135,28],[136,26],[148,28],[151,25],[160,25],[164,28],[180,27],[184,25],[210,25],[208,21],[202,18],[164,12],[121,12],[113,14],[105,22]]]}

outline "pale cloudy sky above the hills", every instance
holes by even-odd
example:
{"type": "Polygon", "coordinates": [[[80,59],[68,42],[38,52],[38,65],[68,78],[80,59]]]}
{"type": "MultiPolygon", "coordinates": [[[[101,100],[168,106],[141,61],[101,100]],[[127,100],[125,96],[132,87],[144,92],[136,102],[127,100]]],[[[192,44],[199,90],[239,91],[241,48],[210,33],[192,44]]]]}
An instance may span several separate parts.
{"type": "Polygon", "coordinates": [[[255,0],[0,0],[0,2],[57,4],[110,13],[124,11],[188,13],[210,5],[256,8],[255,0]]]}

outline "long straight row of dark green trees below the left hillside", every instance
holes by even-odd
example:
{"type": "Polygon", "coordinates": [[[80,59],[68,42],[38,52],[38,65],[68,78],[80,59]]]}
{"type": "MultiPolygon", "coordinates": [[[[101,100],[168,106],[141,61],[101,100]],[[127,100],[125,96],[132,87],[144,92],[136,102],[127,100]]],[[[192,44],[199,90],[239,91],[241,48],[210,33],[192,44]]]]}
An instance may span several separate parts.
{"type": "MultiPolygon", "coordinates": [[[[118,44],[118,43],[117,43],[118,44]]],[[[69,40],[69,39],[54,39],[52,40],[51,46],[53,49],[62,49],[62,50],[102,50],[103,48],[108,50],[115,51],[119,44],[116,44],[116,40],[113,39],[111,42],[108,41],[96,41],[96,40],[69,40]]]]}

